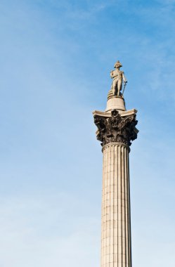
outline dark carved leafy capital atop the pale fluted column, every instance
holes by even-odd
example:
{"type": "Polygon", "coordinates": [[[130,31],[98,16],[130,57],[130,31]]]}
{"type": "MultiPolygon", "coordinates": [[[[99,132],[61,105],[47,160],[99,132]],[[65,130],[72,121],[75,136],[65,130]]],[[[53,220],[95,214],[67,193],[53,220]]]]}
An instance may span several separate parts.
{"type": "Polygon", "coordinates": [[[96,138],[102,142],[102,146],[116,142],[131,145],[131,141],[137,138],[137,122],[135,114],[121,117],[117,110],[112,110],[111,117],[94,115],[94,123],[98,128],[96,138]]]}

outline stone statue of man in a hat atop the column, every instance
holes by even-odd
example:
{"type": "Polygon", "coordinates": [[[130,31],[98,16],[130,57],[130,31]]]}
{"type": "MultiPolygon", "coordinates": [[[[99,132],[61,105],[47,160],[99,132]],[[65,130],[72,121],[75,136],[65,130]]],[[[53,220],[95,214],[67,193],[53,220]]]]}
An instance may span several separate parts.
{"type": "Polygon", "coordinates": [[[112,80],[112,94],[113,96],[121,96],[120,91],[122,90],[122,81],[124,84],[127,84],[127,78],[124,76],[124,72],[119,70],[120,67],[122,67],[122,64],[119,62],[119,60],[115,63],[115,69],[111,70],[110,77],[112,80]]]}

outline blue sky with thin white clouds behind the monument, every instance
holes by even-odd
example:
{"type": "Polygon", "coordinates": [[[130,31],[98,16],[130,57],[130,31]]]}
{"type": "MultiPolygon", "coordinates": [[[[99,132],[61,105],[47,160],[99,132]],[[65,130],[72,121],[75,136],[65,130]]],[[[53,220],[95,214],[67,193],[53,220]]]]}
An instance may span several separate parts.
{"type": "Polygon", "coordinates": [[[175,1],[0,1],[0,267],[99,266],[93,110],[123,64],[134,267],[175,261],[175,1]]]}

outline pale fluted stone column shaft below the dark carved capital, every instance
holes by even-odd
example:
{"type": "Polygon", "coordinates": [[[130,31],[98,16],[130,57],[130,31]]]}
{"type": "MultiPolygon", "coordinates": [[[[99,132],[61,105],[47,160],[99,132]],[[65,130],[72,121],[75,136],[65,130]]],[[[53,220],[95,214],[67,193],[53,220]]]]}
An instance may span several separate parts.
{"type": "Polygon", "coordinates": [[[101,267],[131,267],[129,146],[103,146],[101,267]]]}

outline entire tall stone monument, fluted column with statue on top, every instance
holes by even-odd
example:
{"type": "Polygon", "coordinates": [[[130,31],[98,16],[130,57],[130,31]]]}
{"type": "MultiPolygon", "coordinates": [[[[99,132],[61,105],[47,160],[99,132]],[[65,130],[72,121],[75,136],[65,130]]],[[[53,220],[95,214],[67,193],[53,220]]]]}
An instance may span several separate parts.
{"type": "Polygon", "coordinates": [[[137,138],[137,110],[126,110],[127,79],[119,61],[114,67],[105,112],[93,112],[103,152],[101,267],[131,267],[129,147],[137,138]]]}

